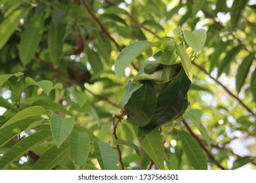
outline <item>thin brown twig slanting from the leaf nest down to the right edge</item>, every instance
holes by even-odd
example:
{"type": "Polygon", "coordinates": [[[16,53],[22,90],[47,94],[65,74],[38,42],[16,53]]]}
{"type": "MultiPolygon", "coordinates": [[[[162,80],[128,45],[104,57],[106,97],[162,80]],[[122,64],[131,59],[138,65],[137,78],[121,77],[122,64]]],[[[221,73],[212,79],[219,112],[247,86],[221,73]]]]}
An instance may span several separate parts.
{"type": "Polygon", "coordinates": [[[203,71],[203,73],[205,73],[206,75],[208,75],[212,80],[214,80],[215,82],[217,82],[217,84],[219,84],[220,86],[223,87],[223,89],[232,97],[234,97],[249,113],[254,115],[253,110],[251,110],[251,108],[247,107],[247,105],[245,105],[245,103],[239,99],[236,95],[234,95],[234,93],[230,92],[230,90],[228,90],[228,88],[226,88],[226,86],[224,86],[221,82],[219,82],[219,80],[215,79],[213,76],[211,76],[201,65],[198,65],[196,62],[192,61],[192,64],[195,65],[196,67],[198,67],[198,69],[200,69],[201,71],[203,71]]]}

